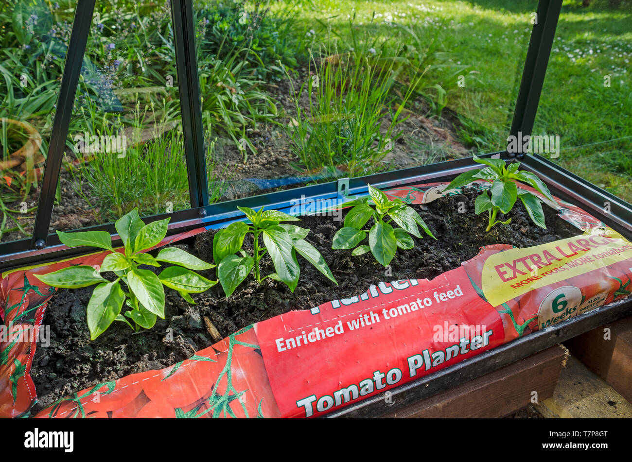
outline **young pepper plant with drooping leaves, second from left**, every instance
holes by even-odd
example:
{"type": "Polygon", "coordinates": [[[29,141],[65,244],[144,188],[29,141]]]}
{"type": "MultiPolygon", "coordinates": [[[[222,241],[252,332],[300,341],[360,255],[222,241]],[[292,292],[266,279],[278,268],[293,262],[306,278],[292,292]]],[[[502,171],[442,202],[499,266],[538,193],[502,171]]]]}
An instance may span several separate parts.
{"type": "Polygon", "coordinates": [[[320,252],[305,240],[310,230],[296,225],[279,224],[298,222],[300,221],[298,218],[278,210],[264,211],[263,207],[258,211],[248,207],[238,207],[238,209],[245,213],[252,225],[234,222],[217,231],[213,238],[213,258],[217,264],[217,276],[226,297],[230,297],[253,268],[257,282],[272,278],[285,283],[289,290],[294,292],[300,274],[296,259],[297,252],[329,280],[338,284],[320,252]],[[253,235],[254,241],[252,256],[242,249],[243,240],[249,233],[253,235]],[[263,247],[261,241],[263,241],[263,247]],[[265,254],[272,259],[276,273],[261,277],[259,263],[265,254]]]}

